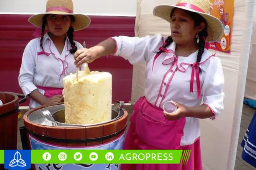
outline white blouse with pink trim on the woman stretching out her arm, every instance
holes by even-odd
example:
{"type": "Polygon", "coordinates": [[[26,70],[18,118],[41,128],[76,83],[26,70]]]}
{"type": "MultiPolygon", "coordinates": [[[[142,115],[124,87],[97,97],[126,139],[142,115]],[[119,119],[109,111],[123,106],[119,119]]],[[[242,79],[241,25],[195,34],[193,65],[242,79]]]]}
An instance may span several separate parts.
{"type": "MultiPolygon", "coordinates": [[[[166,49],[162,48],[166,38],[160,34],[153,37],[112,37],[117,46],[114,55],[127,59],[131,64],[146,61],[145,97],[151,104],[162,108],[165,102],[173,100],[195,107],[203,101],[213,113],[211,119],[215,119],[223,109],[224,99],[224,74],[220,59],[204,49],[198,64],[202,71],[199,74],[198,67],[195,67],[198,51],[189,57],[178,57],[174,54],[174,42],[166,49]],[[157,57],[156,52],[161,48],[164,52],[157,57]]],[[[199,119],[186,117],[181,145],[190,145],[198,137],[199,119]]]]}

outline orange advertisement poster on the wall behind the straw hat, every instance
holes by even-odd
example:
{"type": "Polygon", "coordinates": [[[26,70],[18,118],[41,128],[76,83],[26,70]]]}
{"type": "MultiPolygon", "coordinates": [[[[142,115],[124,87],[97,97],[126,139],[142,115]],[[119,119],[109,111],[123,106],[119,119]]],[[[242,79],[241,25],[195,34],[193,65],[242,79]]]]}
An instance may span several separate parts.
{"type": "Polygon", "coordinates": [[[209,49],[230,53],[234,0],[210,0],[210,14],[220,19],[224,32],[216,43],[209,43],[209,49]]]}

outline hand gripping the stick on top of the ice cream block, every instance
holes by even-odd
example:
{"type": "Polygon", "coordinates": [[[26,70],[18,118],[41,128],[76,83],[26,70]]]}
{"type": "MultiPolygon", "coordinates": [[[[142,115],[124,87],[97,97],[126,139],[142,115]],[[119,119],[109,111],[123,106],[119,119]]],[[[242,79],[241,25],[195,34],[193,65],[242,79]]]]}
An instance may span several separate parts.
{"type": "Polygon", "coordinates": [[[84,63],[91,63],[98,57],[99,56],[97,55],[96,51],[93,51],[91,49],[79,49],[76,51],[76,53],[74,53],[74,64],[76,65],[76,67],[79,67],[84,63]]]}

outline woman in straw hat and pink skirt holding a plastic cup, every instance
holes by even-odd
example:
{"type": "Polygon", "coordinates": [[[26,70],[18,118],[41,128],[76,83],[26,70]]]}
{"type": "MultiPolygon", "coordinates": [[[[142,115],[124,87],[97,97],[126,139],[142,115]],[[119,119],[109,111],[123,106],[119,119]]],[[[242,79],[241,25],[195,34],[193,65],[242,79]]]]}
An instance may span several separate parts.
{"type": "Polygon", "coordinates": [[[153,14],[170,22],[171,36],[112,37],[75,53],[76,66],[111,54],[146,62],[145,96],[134,105],[124,149],[191,150],[186,164],[122,164],[121,170],[202,170],[199,120],[215,119],[224,99],[222,64],[205,49],[223,26],[209,10],[209,0],[158,5],[153,14]],[[176,109],[167,113],[170,101],[176,109]]]}

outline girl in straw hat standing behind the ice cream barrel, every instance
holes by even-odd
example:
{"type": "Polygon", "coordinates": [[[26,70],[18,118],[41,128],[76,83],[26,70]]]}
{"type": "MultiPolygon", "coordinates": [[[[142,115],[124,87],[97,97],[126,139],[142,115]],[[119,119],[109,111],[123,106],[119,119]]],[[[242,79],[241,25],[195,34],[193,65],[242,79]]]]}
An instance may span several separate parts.
{"type": "Polygon", "coordinates": [[[42,32],[24,49],[20,87],[32,99],[30,108],[63,102],[62,79],[76,72],[74,53],[83,48],[74,41],[73,33],[88,27],[91,20],[73,13],[72,0],[48,0],[46,12],[33,15],[28,21],[42,28],[42,32]]]}

